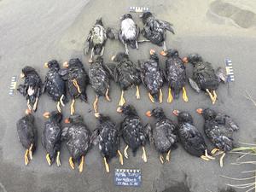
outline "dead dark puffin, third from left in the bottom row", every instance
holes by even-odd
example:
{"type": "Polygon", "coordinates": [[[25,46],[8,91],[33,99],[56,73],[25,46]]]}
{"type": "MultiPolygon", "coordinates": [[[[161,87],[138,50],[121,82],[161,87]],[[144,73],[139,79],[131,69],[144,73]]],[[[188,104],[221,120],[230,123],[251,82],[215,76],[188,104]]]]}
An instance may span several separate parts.
{"type": "Polygon", "coordinates": [[[84,156],[90,149],[91,133],[84,124],[82,116],[73,114],[68,119],[65,119],[67,127],[61,131],[61,141],[66,141],[67,149],[71,155],[69,165],[74,169],[73,160],[80,160],[79,172],[83,172],[84,156]]]}

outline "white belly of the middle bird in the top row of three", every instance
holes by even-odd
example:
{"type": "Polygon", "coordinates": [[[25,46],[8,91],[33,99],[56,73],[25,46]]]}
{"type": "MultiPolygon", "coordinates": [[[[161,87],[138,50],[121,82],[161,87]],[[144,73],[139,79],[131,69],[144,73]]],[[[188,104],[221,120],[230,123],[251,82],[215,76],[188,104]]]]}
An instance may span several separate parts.
{"type": "Polygon", "coordinates": [[[135,22],[130,18],[123,20],[121,23],[121,31],[122,36],[126,39],[135,39],[137,33],[135,22]]]}

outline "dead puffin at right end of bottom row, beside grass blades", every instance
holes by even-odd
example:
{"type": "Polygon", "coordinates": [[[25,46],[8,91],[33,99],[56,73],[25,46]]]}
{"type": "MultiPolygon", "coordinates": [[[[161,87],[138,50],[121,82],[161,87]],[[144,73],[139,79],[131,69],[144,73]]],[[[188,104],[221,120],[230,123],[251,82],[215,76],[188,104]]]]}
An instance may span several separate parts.
{"type": "Polygon", "coordinates": [[[204,131],[215,148],[212,154],[222,154],[219,165],[223,166],[223,159],[226,152],[234,148],[233,132],[239,130],[238,125],[230,116],[224,113],[217,113],[210,108],[198,108],[197,113],[202,114],[205,119],[204,131]]]}

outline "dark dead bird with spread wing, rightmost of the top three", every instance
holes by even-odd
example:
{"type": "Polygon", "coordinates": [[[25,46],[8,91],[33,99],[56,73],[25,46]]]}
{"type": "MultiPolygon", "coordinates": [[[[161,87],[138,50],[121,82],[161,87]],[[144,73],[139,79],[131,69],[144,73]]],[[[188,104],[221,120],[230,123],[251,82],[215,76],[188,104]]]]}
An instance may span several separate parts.
{"type": "Polygon", "coordinates": [[[141,18],[144,25],[143,36],[150,40],[152,44],[163,46],[163,49],[166,50],[166,30],[174,34],[172,24],[164,20],[155,19],[150,12],[143,13],[141,18]]]}

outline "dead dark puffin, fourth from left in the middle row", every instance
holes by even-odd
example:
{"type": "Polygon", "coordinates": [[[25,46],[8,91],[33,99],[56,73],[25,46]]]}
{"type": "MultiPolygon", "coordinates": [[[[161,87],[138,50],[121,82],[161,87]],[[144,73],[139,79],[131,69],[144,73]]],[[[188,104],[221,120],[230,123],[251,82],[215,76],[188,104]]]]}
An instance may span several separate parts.
{"type": "Polygon", "coordinates": [[[105,96],[107,101],[110,102],[108,96],[110,80],[113,78],[113,72],[103,63],[102,57],[97,57],[96,61],[93,61],[89,68],[89,78],[92,89],[96,92],[96,100],[93,103],[95,113],[98,113],[98,98],[99,96],[105,96]]]}

